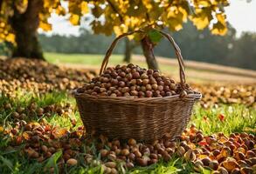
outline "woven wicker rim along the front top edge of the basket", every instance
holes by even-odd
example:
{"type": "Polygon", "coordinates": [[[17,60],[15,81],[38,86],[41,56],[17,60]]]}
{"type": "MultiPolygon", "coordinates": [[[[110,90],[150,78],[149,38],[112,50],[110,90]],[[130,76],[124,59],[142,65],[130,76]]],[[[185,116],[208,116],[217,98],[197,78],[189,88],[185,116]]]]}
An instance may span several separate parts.
{"type": "Polygon", "coordinates": [[[184,100],[200,100],[202,98],[202,94],[200,92],[197,92],[195,94],[188,94],[184,97],[181,97],[180,95],[176,94],[173,96],[168,97],[142,97],[142,98],[135,98],[135,97],[105,97],[105,96],[92,96],[86,93],[79,93],[76,90],[73,90],[74,97],[84,97],[84,98],[90,98],[93,100],[114,100],[114,101],[137,101],[137,102],[154,102],[154,101],[164,101],[164,100],[175,100],[175,99],[184,99],[184,100]]]}

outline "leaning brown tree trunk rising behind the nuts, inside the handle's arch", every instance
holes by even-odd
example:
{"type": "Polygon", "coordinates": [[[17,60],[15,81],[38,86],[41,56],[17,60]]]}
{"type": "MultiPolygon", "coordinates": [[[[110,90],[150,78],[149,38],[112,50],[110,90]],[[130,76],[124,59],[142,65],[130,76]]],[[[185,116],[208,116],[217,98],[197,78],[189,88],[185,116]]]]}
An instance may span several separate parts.
{"type": "Polygon", "coordinates": [[[151,43],[149,37],[144,37],[142,39],[142,50],[144,57],[146,57],[146,61],[149,69],[159,70],[158,64],[156,62],[156,57],[153,53],[154,44],[151,43]]]}

